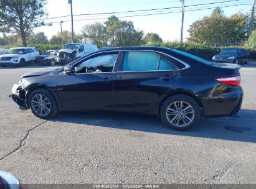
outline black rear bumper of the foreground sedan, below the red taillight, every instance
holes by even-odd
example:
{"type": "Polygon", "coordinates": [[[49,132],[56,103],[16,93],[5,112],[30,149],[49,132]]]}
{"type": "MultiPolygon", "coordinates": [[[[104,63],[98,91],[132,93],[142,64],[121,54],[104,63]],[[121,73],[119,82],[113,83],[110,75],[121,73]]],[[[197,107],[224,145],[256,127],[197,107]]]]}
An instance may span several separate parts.
{"type": "Polygon", "coordinates": [[[218,96],[207,96],[202,99],[204,116],[231,116],[237,114],[242,106],[244,92],[240,86],[234,87],[230,93],[218,96]]]}

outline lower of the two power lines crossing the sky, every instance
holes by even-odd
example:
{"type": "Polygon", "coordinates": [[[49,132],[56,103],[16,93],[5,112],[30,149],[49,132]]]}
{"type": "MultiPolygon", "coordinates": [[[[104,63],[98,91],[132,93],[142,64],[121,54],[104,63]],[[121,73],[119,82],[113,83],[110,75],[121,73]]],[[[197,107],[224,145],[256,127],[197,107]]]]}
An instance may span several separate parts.
{"type": "MultiPolygon", "coordinates": [[[[234,7],[234,6],[242,6],[242,5],[250,5],[249,3],[244,3],[244,4],[234,4],[230,6],[222,6],[222,7],[234,7]]],[[[201,9],[189,9],[184,12],[191,12],[191,11],[202,11],[202,10],[207,10],[207,9],[214,9],[215,7],[207,7],[207,8],[201,8],[201,9]]],[[[178,13],[182,11],[174,11],[174,12],[162,12],[162,13],[152,13],[152,14],[138,14],[138,15],[132,15],[132,16],[118,16],[120,18],[122,17],[138,17],[138,16],[151,16],[151,15],[160,15],[160,14],[172,14],[172,13],[178,13]]],[[[93,21],[93,20],[100,20],[100,19],[108,19],[108,17],[104,18],[93,18],[93,19],[76,19],[73,21],[93,21]]],[[[70,22],[70,21],[64,21],[64,22],[70,22]]],[[[59,23],[59,22],[50,22],[52,24],[54,23],[59,23]]]]}

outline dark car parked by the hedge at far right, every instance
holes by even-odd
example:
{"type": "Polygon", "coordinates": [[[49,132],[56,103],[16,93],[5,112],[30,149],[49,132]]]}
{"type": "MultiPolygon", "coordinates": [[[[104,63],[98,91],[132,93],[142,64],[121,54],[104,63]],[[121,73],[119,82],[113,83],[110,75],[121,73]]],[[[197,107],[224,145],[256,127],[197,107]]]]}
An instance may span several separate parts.
{"type": "Polygon", "coordinates": [[[225,48],[212,57],[212,62],[221,63],[249,63],[249,52],[244,48],[225,48]]]}

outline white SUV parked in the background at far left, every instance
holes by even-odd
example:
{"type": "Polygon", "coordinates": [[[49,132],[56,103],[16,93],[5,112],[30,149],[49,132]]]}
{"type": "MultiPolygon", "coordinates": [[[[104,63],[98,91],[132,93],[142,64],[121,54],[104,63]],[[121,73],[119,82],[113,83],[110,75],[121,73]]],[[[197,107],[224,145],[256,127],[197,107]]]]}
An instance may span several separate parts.
{"type": "Polygon", "coordinates": [[[35,47],[15,47],[0,55],[0,66],[6,65],[25,65],[29,62],[35,62],[39,51],[35,47]]]}

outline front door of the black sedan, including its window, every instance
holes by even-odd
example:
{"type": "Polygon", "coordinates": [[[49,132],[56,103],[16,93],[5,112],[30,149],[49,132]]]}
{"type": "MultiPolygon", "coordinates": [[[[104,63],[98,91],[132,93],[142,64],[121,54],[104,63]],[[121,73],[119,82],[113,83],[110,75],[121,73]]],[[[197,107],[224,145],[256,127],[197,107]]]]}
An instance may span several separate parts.
{"type": "Polygon", "coordinates": [[[118,53],[97,55],[75,65],[75,73],[59,74],[57,95],[68,109],[113,110],[113,79],[118,53]]]}

